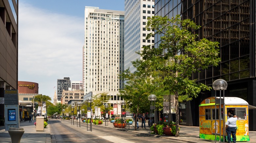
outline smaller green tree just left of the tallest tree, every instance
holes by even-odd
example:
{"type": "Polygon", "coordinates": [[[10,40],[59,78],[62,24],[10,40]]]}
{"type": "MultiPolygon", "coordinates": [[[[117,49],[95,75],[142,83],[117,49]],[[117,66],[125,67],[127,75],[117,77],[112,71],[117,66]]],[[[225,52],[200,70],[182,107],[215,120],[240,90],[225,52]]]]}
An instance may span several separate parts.
{"type": "MultiPolygon", "coordinates": [[[[123,89],[119,90],[120,96],[127,102],[130,110],[138,116],[138,113],[145,113],[149,111],[150,102],[148,95],[155,94],[160,100],[156,101],[156,107],[162,108],[162,95],[163,85],[159,79],[159,73],[152,71],[150,63],[144,60],[135,60],[132,62],[133,66],[137,69],[131,72],[129,69],[120,74],[120,78],[126,83],[123,89]]],[[[137,118],[135,119],[137,122],[137,118]]],[[[135,124],[137,126],[137,124],[135,124]]],[[[135,130],[137,128],[135,127],[135,130]]]]}

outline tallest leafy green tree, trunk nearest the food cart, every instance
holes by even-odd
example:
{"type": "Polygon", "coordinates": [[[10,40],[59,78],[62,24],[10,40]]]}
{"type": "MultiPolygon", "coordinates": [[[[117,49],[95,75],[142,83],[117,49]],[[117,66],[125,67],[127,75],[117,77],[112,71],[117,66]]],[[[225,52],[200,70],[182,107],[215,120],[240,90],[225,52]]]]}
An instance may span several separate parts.
{"type": "MultiPolygon", "coordinates": [[[[151,61],[152,68],[165,73],[165,90],[175,94],[176,137],[179,137],[179,101],[192,100],[202,90],[211,89],[196,83],[190,77],[192,73],[200,72],[200,69],[206,69],[209,65],[218,65],[218,42],[206,39],[196,41],[198,35],[191,31],[199,29],[200,26],[189,19],[181,20],[179,16],[171,19],[160,16],[148,18],[146,28],[154,29],[155,35],[161,35],[161,43],[157,48],[144,46],[139,54],[143,60],[151,61]],[[182,93],[181,97],[179,93],[182,93]]],[[[152,35],[154,34],[148,34],[146,39],[152,35]]]]}

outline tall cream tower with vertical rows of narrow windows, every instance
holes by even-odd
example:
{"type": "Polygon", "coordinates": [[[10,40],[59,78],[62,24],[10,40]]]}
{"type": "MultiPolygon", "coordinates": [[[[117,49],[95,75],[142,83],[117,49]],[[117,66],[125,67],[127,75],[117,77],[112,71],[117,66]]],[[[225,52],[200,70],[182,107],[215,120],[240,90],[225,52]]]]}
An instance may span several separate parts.
{"type": "Polygon", "coordinates": [[[123,29],[124,11],[85,7],[84,99],[101,92],[116,95],[120,88],[123,29]]]}

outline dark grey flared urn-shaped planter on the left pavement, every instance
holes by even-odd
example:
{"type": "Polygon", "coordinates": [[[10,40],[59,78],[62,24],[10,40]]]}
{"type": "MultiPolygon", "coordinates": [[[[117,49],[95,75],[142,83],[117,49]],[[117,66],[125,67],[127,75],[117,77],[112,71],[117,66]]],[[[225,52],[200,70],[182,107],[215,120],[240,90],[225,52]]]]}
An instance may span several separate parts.
{"type": "Polygon", "coordinates": [[[24,134],[23,128],[10,128],[8,130],[8,133],[11,136],[11,142],[12,143],[20,143],[20,139],[22,135],[24,134]]]}

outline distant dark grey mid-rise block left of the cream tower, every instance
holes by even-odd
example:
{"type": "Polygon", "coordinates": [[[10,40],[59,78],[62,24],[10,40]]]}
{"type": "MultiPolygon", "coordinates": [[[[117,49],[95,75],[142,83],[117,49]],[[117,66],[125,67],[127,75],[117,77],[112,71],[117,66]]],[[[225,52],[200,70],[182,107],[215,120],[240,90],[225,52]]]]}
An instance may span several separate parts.
{"type": "Polygon", "coordinates": [[[63,90],[69,90],[71,88],[71,82],[69,77],[64,77],[64,79],[57,79],[57,99],[60,101],[62,97],[63,90]]]}

